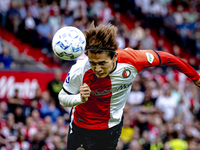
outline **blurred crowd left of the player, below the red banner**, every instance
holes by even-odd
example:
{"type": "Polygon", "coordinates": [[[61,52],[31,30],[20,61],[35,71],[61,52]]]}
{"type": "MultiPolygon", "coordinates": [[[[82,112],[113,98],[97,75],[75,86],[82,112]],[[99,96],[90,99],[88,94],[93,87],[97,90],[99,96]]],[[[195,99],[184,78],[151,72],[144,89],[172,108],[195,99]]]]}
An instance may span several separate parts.
{"type": "Polygon", "coordinates": [[[59,104],[62,71],[33,99],[22,99],[20,89],[0,101],[0,150],[66,150],[70,108],[59,104]]]}

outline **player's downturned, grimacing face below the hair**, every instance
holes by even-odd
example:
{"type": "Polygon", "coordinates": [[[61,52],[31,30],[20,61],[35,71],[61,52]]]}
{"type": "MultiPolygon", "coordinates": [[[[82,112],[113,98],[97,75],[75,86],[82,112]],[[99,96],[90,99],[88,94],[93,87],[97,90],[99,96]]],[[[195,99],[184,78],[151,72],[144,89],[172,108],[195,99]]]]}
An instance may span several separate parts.
{"type": "Polygon", "coordinates": [[[90,66],[98,78],[105,78],[111,71],[115,69],[117,61],[117,53],[113,59],[109,56],[109,52],[91,53],[88,51],[90,66]]]}

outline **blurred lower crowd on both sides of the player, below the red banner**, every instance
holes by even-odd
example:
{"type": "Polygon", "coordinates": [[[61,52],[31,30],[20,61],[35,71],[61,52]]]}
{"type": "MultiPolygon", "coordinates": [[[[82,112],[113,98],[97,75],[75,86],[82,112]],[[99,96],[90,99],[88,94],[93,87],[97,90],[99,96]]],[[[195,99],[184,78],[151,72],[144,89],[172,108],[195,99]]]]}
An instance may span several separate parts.
{"type": "MultiPolygon", "coordinates": [[[[123,113],[117,150],[199,150],[200,89],[184,74],[149,68],[137,75],[123,113]]],[[[67,150],[70,107],[59,104],[62,71],[35,97],[0,101],[0,150],[67,150]]]]}

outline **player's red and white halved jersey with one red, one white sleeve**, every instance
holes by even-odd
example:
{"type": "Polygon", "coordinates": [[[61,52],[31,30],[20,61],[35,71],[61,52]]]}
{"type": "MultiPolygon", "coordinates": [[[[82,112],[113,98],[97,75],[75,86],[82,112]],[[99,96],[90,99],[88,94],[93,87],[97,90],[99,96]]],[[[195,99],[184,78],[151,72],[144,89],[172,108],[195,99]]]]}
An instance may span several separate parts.
{"type": "Polygon", "coordinates": [[[88,101],[72,107],[71,118],[78,127],[107,129],[119,124],[132,82],[146,67],[175,65],[192,80],[199,79],[199,74],[192,67],[169,53],[131,48],[118,49],[117,53],[117,66],[105,78],[96,77],[88,57],[78,60],[69,71],[63,85],[65,91],[78,94],[83,83],[91,89],[88,101]]]}

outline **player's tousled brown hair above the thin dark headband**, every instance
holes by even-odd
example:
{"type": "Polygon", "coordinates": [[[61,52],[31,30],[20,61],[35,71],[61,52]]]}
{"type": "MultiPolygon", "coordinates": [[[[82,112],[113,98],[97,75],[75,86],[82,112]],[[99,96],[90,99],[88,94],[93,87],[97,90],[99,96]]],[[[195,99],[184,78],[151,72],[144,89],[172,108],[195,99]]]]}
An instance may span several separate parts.
{"type": "Polygon", "coordinates": [[[83,33],[86,38],[86,55],[88,50],[91,53],[108,51],[110,57],[114,57],[115,50],[118,48],[117,27],[108,23],[107,25],[100,24],[95,28],[94,22],[92,22],[89,30],[84,30],[83,33]]]}

